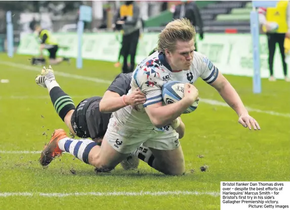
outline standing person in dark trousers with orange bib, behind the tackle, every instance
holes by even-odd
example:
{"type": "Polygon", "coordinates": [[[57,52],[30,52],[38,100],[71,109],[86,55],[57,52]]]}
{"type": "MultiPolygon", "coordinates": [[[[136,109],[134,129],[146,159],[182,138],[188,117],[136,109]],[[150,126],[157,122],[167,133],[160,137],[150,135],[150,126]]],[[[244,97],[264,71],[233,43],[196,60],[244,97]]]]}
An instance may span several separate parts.
{"type": "Polygon", "coordinates": [[[123,73],[133,72],[135,68],[135,56],[139,41],[140,29],[142,27],[139,18],[140,9],[134,1],[126,1],[122,5],[113,19],[113,29],[122,30],[121,55],[123,56],[123,73]],[[130,68],[127,60],[130,55],[130,68]]]}

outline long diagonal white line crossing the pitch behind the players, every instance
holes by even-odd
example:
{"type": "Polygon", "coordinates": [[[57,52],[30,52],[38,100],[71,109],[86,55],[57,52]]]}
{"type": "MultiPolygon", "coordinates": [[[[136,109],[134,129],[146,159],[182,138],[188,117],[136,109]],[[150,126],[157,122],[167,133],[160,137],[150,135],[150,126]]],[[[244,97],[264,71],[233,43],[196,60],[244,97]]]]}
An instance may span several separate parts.
{"type": "MultiPolygon", "coordinates": [[[[8,62],[8,61],[0,61],[0,64],[16,67],[17,69],[37,71],[39,73],[40,73],[40,68],[41,68],[41,67],[17,64],[17,63],[8,62]]],[[[75,79],[82,79],[82,80],[87,80],[87,81],[101,82],[101,83],[106,83],[106,84],[111,84],[111,82],[112,82],[112,81],[109,81],[109,80],[104,80],[104,79],[99,79],[99,78],[94,78],[94,77],[88,77],[88,76],[80,76],[80,75],[76,75],[76,74],[69,74],[69,73],[64,73],[64,72],[59,72],[59,71],[55,71],[55,75],[60,75],[60,76],[70,77],[70,78],[75,78],[75,79]]],[[[23,98],[21,98],[21,99],[25,99],[25,96],[22,96],[22,97],[23,98]]],[[[1,100],[1,98],[4,99],[5,97],[1,97],[0,96],[0,100],[1,100]]],[[[75,98],[77,98],[77,97],[75,97],[75,98]]],[[[17,97],[15,99],[17,99],[17,97]]],[[[27,97],[27,99],[30,99],[30,98],[27,97]]],[[[200,102],[201,103],[215,105],[215,106],[229,107],[229,105],[227,103],[225,103],[225,102],[212,100],[212,99],[202,99],[201,98],[200,102]]],[[[270,115],[275,115],[275,116],[282,116],[282,117],[290,117],[290,113],[280,113],[280,112],[275,112],[275,111],[260,110],[260,109],[254,109],[254,108],[251,108],[251,107],[246,107],[246,109],[248,111],[252,111],[252,112],[259,112],[259,113],[265,113],[265,114],[270,114],[270,115]]]]}

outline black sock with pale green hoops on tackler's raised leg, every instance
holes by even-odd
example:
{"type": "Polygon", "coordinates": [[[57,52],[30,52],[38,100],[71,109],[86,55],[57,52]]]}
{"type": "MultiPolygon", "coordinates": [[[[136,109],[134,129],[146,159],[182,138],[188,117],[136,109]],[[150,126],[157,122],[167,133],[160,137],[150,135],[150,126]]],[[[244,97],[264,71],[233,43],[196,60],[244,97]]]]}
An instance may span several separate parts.
{"type": "Polygon", "coordinates": [[[75,109],[74,103],[69,95],[63,92],[60,87],[54,87],[50,93],[51,101],[54,105],[54,109],[64,121],[64,117],[68,111],[75,109]]]}

